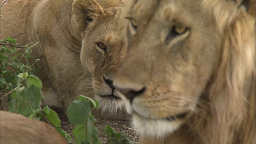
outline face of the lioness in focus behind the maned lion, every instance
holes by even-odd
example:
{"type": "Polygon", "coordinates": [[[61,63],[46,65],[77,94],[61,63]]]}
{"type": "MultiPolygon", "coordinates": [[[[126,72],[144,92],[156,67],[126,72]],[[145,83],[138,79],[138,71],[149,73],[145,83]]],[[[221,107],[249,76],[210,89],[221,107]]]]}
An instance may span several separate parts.
{"type": "Polygon", "coordinates": [[[103,16],[93,26],[89,25],[85,32],[80,57],[84,70],[92,76],[88,81],[102,112],[113,114],[124,105],[112,84],[126,47],[120,37],[120,10],[104,11],[103,16]]]}

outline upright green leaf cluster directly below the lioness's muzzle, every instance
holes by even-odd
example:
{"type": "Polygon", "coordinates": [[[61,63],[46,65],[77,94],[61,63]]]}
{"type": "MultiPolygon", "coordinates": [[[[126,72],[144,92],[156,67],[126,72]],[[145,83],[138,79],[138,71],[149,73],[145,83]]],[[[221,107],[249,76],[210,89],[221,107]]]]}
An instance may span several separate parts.
{"type": "Polygon", "coordinates": [[[101,144],[91,108],[98,108],[98,102],[82,95],[68,106],[68,120],[75,124],[73,135],[77,144],[101,144]]]}

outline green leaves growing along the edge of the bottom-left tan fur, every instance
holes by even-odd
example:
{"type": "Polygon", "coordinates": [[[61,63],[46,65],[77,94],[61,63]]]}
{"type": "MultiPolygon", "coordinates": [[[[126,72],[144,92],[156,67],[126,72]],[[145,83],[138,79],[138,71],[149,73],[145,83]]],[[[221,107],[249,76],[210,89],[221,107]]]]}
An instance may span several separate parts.
{"type": "Polygon", "coordinates": [[[17,76],[18,87],[11,92],[12,100],[8,102],[9,111],[34,120],[46,120],[48,124],[51,123],[66,138],[69,144],[72,144],[70,134],[61,129],[58,114],[48,106],[41,108],[42,100],[44,100],[41,80],[27,72],[20,73],[17,76]]]}

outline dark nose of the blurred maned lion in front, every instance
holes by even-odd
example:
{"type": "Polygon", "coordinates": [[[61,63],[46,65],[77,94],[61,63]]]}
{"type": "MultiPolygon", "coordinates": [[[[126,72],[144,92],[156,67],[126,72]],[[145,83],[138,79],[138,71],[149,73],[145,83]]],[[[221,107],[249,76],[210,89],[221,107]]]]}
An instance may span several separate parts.
{"type": "Polygon", "coordinates": [[[116,90],[118,90],[119,92],[124,94],[124,96],[130,100],[130,103],[132,103],[132,100],[136,96],[139,96],[140,94],[142,94],[145,91],[145,89],[146,88],[144,87],[141,90],[136,91],[136,90],[133,90],[133,89],[130,89],[130,88],[125,88],[125,89],[116,88],[116,90]]]}

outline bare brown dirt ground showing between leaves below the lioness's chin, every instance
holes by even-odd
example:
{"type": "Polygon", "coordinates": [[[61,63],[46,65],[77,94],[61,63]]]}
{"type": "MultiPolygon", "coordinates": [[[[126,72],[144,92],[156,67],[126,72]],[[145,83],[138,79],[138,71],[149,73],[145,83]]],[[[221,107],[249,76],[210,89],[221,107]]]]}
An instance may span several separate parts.
{"type": "MultiPolygon", "coordinates": [[[[62,129],[71,135],[72,142],[74,142],[74,136],[72,135],[72,130],[74,125],[71,124],[68,121],[68,118],[64,114],[64,112],[60,112],[58,110],[55,110],[59,118],[61,120],[62,129]]],[[[120,120],[102,120],[99,118],[96,118],[97,124],[98,124],[98,132],[99,132],[99,140],[103,144],[107,141],[107,135],[103,134],[103,130],[106,126],[106,124],[109,124],[116,132],[124,131],[126,136],[130,138],[130,140],[134,142],[138,142],[138,135],[136,135],[136,129],[132,128],[129,121],[120,121],[120,120]]]]}

